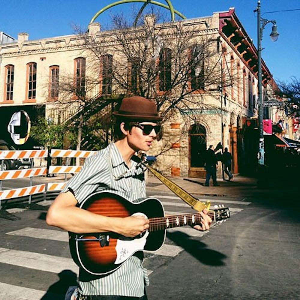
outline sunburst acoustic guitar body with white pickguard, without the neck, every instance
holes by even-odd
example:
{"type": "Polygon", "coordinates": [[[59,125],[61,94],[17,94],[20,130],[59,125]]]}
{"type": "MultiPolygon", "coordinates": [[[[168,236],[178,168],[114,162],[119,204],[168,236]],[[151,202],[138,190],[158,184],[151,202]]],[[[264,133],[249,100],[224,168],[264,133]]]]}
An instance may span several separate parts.
{"type": "MultiPolygon", "coordinates": [[[[139,203],[132,203],[113,193],[92,194],[79,207],[107,217],[124,218],[133,214],[141,215],[141,212],[146,212],[144,215],[148,218],[164,216],[164,208],[158,199],[148,198],[139,203]]],[[[69,232],[70,252],[79,267],[91,274],[102,275],[119,268],[138,250],[158,250],[164,244],[165,236],[165,230],[146,232],[145,235],[136,238],[126,238],[114,232],[97,234],[69,232]],[[102,246],[99,235],[104,239],[102,246]],[[108,241],[107,237],[109,237],[108,241]],[[128,247],[128,242],[134,245],[128,247]],[[119,253],[117,252],[117,243],[121,247],[119,253]],[[116,260],[117,258],[118,260],[116,260]]]]}

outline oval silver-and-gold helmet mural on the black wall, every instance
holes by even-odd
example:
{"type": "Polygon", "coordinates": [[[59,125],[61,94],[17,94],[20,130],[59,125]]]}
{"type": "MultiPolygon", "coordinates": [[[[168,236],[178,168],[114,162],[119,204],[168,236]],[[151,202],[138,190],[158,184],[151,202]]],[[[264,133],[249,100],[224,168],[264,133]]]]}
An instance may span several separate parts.
{"type": "Polygon", "coordinates": [[[31,121],[24,110],[13,113],[7,126],[7,131],[16,145],[23,145],[29,138],[31,121]]]}

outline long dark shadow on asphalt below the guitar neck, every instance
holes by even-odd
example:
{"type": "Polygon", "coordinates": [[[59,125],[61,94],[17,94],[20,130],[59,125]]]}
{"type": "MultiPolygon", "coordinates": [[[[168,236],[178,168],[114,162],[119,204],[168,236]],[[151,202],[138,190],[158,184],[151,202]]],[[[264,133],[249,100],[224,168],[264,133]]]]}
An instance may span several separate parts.
{"type": "Polygon", "coordinates": [[[223,262],[223,260],[227,257],[225,254],[212,249],[207,249],[206,244],[194,240],[192,237],[183,232],[167,232],[167,237],[205,265],[226,265],[226,263],[223,262]]]}

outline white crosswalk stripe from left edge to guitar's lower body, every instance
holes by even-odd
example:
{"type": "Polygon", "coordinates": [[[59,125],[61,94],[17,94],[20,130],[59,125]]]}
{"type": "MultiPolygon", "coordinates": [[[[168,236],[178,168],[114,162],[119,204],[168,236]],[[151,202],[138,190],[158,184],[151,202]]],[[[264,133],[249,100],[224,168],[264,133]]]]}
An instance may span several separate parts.
{"type": "Polygon", "coordinates": [[[78,273],[78,266],[71,258],[22,250],[0,248],[0,262],[57,274],[66,269],[78,273]]]}

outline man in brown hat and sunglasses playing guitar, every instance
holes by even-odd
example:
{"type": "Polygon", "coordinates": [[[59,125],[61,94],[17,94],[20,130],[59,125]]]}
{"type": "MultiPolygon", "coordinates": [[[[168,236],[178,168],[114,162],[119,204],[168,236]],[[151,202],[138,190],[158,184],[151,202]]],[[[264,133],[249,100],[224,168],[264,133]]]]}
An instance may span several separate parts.
{"type": "MultiPolygon", "coordinates": [[[[50,206],[46,223],[69,232],[115,232],[128,238],[149,228],[143,216],[107,217],[79,208],[88,195],[107,191],[140,202],[146,197],[144,169],[134,154],[148,151],[155,140],[162,120],[153,101],[143,97],[124,98],[116,117],[116,141],[85,160],[82,170],[67,182],[66,187],[50,206]]],[[[207,230],[211,218],[201,212],[197,230],[207,230]]],[[[143,268],[143,252],[138,251],[110,274],[95,276],[79,268],[78,299],[143,299],[149,285],[143,268]]]]}

